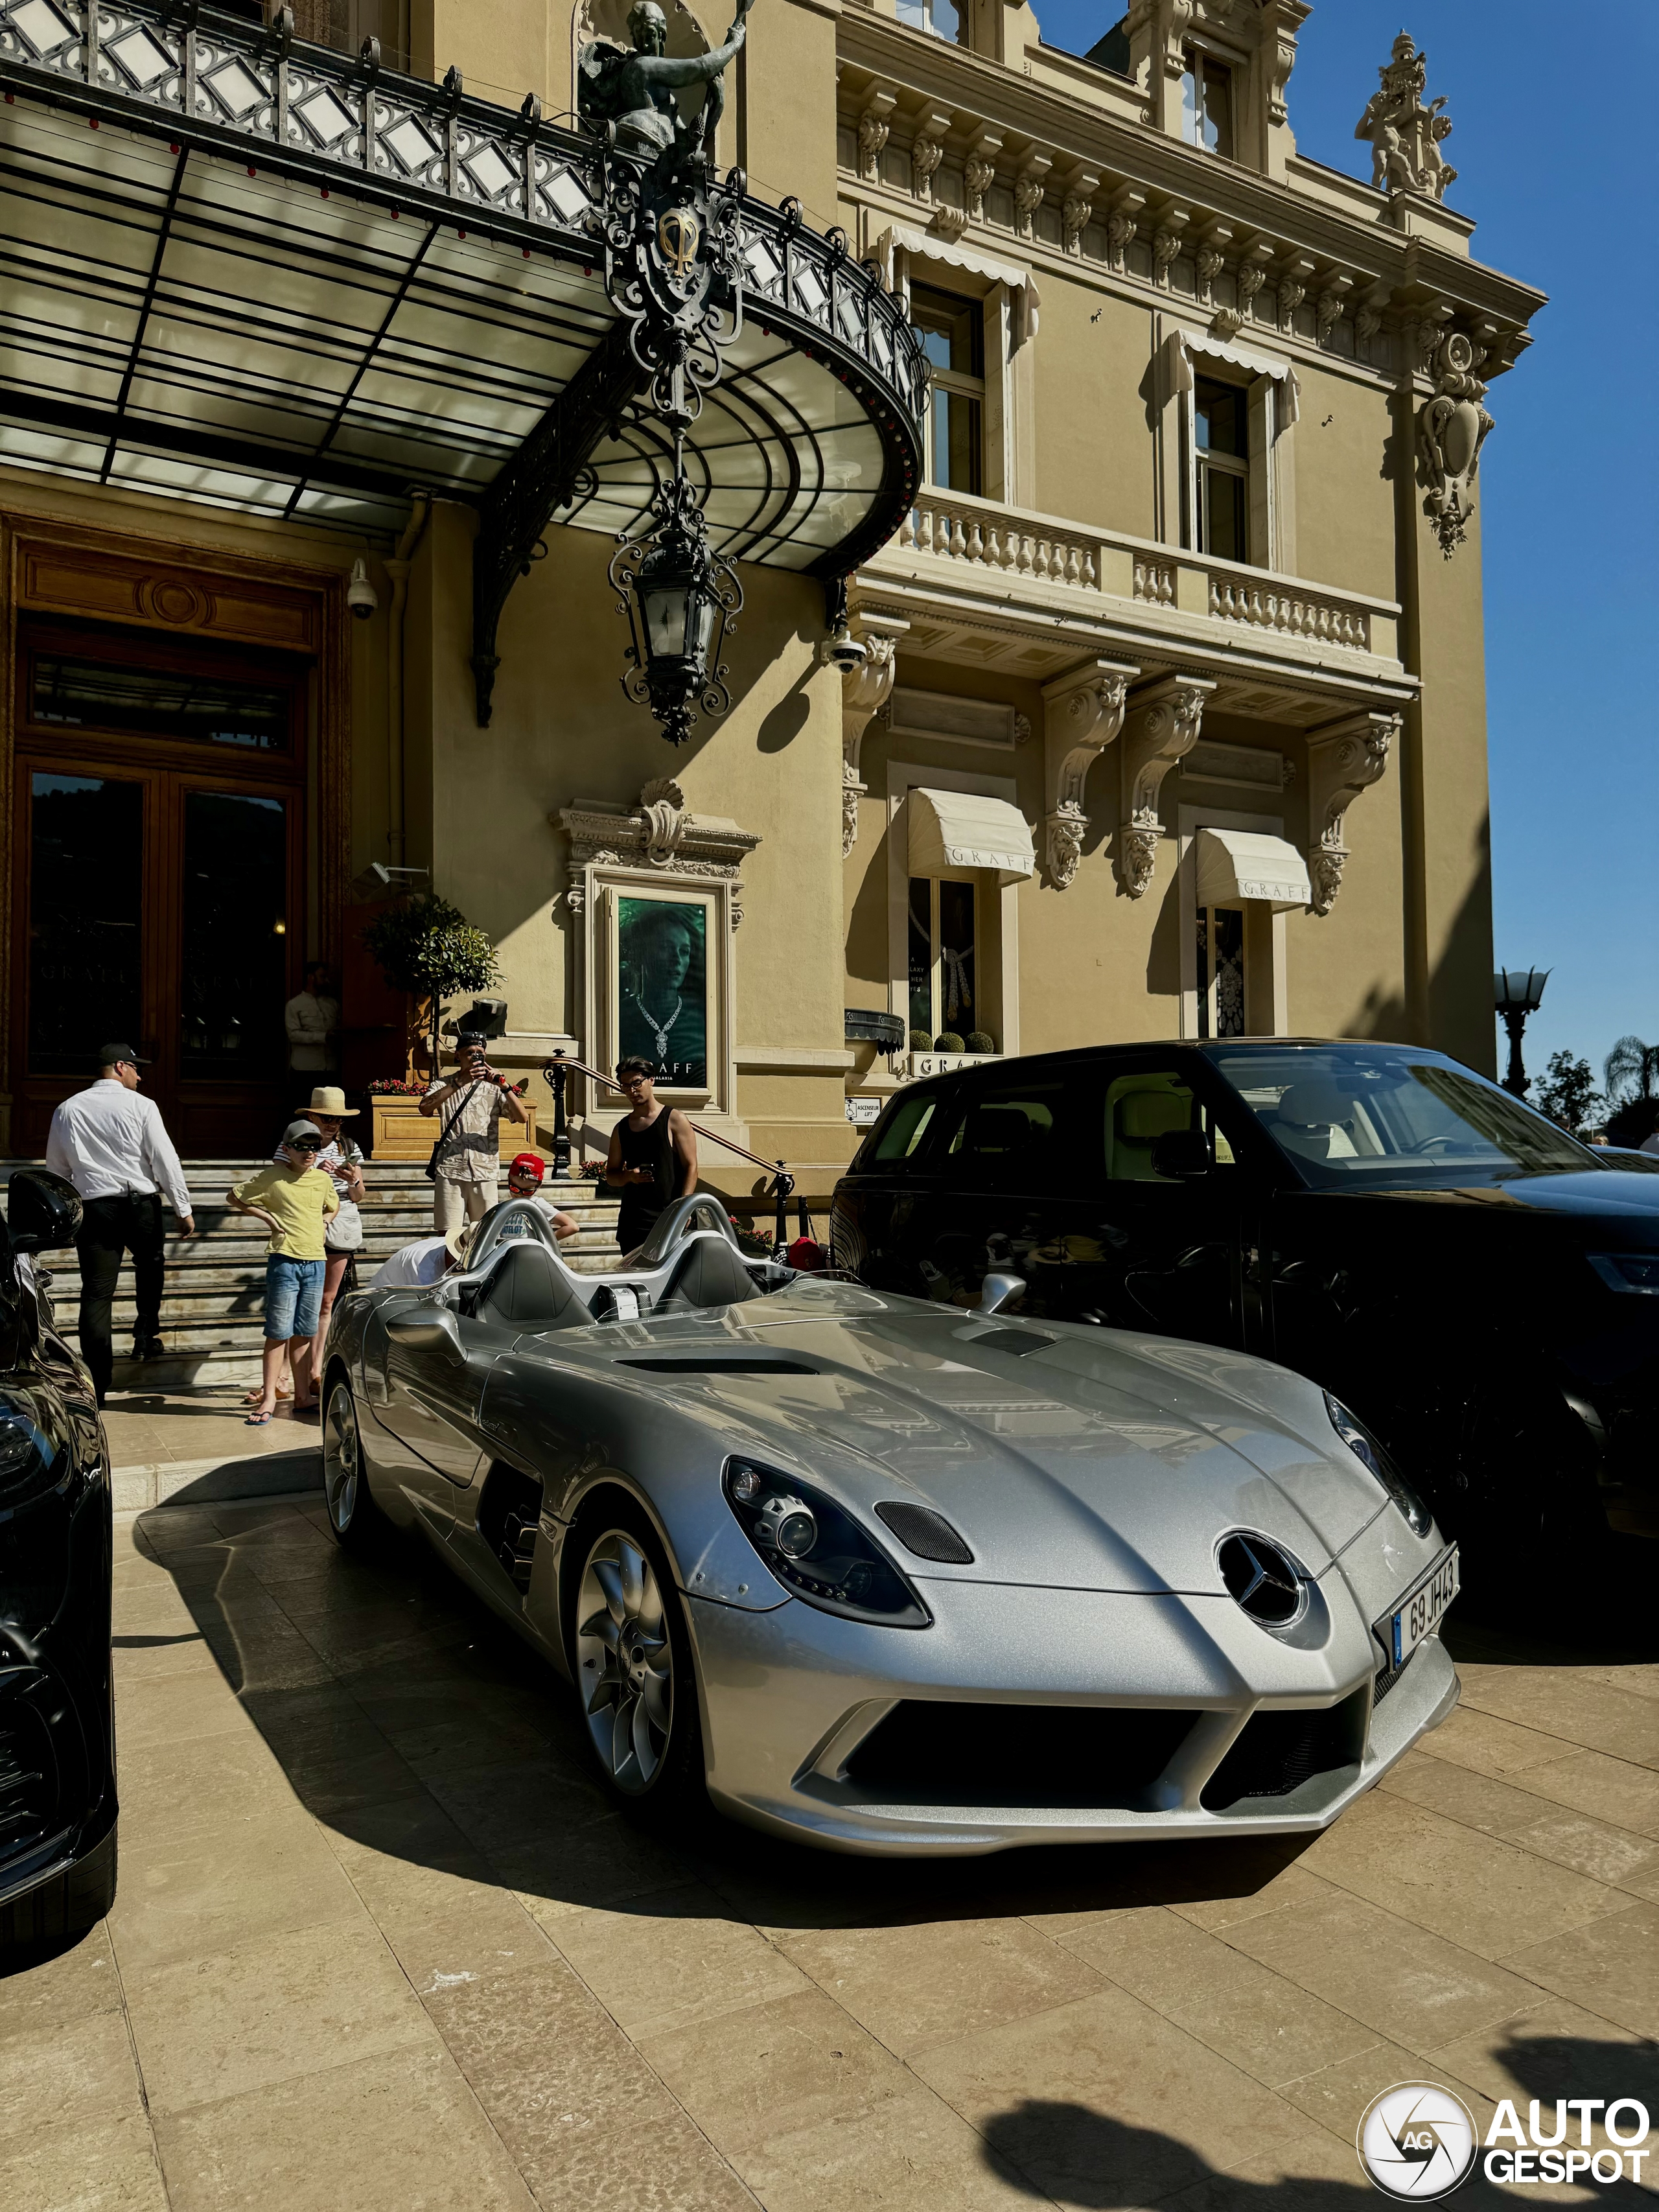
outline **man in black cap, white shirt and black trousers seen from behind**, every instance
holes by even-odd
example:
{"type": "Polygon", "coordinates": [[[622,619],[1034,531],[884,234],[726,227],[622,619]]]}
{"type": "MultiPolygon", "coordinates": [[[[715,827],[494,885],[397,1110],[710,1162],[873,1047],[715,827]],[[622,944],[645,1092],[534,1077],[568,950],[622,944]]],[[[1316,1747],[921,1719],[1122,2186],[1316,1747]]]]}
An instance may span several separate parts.
{"type": "Polygon", "coordinates": [[[97,1082],[64,1099],[51,1117],[46,1166],[82,1197],[80,1354],[102,1405],[115,1367],[111,1314],[122,1254],[133,1254],[133,1358],[161,1356],[161,1197],[177,1214],[179,1237],[195,1237],[195,1210],[179,1155],[155,1099],[139,1097],[139,1060],[131,1044],[97,1051],[97,1082]]]}

